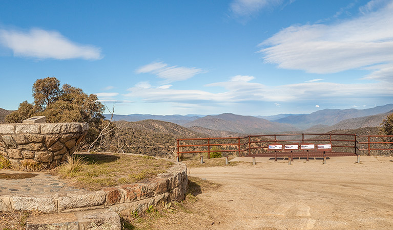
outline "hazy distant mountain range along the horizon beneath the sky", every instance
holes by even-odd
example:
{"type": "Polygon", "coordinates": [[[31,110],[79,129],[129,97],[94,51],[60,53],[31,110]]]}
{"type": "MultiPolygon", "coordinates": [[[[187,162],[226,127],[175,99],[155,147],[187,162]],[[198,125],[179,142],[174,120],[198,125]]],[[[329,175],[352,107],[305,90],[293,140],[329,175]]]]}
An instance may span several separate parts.
{"type": "MultiPolygon", "coordinates": [[[[276,116],[241,116],[232,113],[219,115],[172,115],[150,114],[114,115],[114,120],[141,121],[160,120],[172,122],[193,131],[212,136],[223,134],[280,133],[280,132],[327,132],[335,129],[356,129],[379,126],[388,113],[393,112],[393,104],[369,109],[323,109],[310,114],[278,114],[276,116]]],[[[110,114],[105,114],[107,118],[110,114]]]]}

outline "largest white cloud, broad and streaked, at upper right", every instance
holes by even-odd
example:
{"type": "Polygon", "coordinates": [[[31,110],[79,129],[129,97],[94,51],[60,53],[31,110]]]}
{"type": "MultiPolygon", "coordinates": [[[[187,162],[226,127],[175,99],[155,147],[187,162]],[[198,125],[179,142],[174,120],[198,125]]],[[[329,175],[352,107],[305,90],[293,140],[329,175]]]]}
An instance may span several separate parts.
{"type": "Polygon", "coordinates": [[[392,66],[393,27],[387,26],[393,25],[391,12],[390,1],[377,11],[336,24],[291,26],[262,42],[266,48],[260,52],[266,63],[317,74],[381,63],[392,66]]]}

